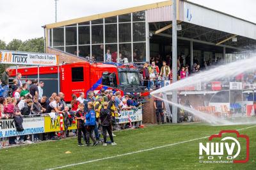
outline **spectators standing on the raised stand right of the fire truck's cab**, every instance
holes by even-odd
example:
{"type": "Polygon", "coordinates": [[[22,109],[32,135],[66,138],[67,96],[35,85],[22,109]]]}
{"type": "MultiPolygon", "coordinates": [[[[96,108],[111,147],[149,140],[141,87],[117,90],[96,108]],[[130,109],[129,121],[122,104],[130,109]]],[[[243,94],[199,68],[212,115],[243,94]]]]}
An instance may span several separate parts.
{"type": "MultiPolygon", "coordinates": [[[[188,64],[184,64],[184,56],[178,56],[177,80],[185,79],[189,75],[200,73],[201,70],[209,70],[215,66],[221,65],[221,59],[218,58],[214,64],[210,61],[204,61],[204,66],[202,68],[197,59],[194,59],[193,63],[193,66],[190,68],[188,64]]],[[[151,57],[150,62],[146,62],[143,65],[141,79],[143,86],[146,86],[148,90],[154,90],[161,88],[164,85],[164,81],[172,81],[172,76],[172,57],[167,55],[165,60],[162,60],[162,57],[158,55],[156,57],[151,57]]]]}

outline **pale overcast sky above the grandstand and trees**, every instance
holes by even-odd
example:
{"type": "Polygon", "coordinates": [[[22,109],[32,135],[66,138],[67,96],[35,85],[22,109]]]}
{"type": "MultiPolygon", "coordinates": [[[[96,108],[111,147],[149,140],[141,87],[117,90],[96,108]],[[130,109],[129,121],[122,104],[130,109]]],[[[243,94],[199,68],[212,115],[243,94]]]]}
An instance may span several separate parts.
{"type": "MultiPolygon", "coordinates": [[[[111,12],[164,0],[58,0],[58,21],[111,12]]],[[[191,0],[194,3],[256,23],[255,0],[191,0]]],[[[55,21],[54,0],[0,0],[0,40],[44,36],[41,26],[55,21]]]]}

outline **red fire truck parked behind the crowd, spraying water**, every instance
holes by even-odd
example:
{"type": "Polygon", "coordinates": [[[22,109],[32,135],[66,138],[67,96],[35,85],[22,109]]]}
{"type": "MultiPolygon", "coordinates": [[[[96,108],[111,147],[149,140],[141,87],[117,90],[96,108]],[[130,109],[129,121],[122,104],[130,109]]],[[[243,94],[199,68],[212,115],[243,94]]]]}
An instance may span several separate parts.
{"type": "MultiPolygon", "coordinates": [[[[141,86],[139,70],[132,64],[118,63],[70,63],[60,66],[60,91],[65,94],[65,100],[70,102],[72,94],[112,89],[124,93],[140,93],[145,87],[141,86]]],[[[37,79],[38,67],[18,68],[22,79],[37,79]]],[[[40,79],[45,82],[44,95],[58,92],[58,66],[42,66],[39,68],[40,79]]],[[[10,70],[10,77],[16,76],[16,70],[10,70]]]]}

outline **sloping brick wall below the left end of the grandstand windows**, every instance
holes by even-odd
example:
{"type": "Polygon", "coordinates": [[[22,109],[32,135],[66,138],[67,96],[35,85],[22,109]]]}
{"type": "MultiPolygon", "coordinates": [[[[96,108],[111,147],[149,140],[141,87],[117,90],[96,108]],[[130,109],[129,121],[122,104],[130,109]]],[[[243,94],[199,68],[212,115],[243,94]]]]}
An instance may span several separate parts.
{"type": "Polygon", "coordinates": [[[58,54],[60,56],[59,63],[62,63],[63,61],[65,63],[75,63],[75,62],[85,61],[85,59],[83,58],[79,58],[75,55],[69,54],[67,52],[63,52],[61,50],[52,49],[51,47],[47,47],[46,52],[50,54],[58,54]]]}

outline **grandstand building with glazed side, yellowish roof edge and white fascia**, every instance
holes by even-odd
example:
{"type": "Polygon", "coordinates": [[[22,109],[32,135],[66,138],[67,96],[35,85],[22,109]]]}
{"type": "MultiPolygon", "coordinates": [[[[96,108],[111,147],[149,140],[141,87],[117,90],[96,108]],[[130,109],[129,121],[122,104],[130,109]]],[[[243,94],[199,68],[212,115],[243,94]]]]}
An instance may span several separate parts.
{"type": "MultiPolygon", "coordinates": [[[[164,1],[46,24],[46,51],[61,53],[68,63],[86,56],[105,61],[108,49],[116,61],[145,62],[158,54],[164,60],[172,53],[171,6],[164,1]]],[[[177,51],[184,64],[229,63],[256,49],[256,24],[248,20],[188,1],[177,1],[177,20],[177,51]]]]}

